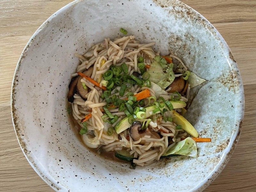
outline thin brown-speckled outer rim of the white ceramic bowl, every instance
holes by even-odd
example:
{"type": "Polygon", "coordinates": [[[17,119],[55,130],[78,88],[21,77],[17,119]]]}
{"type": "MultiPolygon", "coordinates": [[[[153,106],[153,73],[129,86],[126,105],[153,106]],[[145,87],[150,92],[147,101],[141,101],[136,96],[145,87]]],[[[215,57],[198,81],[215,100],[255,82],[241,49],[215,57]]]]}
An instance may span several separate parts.
{"type": "MultiPolygon", "coordinates": [[[[47,27],[47,23],[49,21],[51,21],[54,17],[58,17],[63,11],[70,9],[72,6],[75,6],[76,4],[79,4],[80,2],[84,2],[87,0],[75,0],[67,5],[65,5],[64,7],[60,8],[58,11],[56,11],[55,13],[53,13],[47,20],[45,20],[43,22],[43,24],[35,31],[35,33],[31,36],[31,38],[29,39],[28,43],[26,44],[25,48],[23,49],[20,58],[18,60],[17,66],[15,68],[15,72],[14,72],[14,76],[13,76],[13,80],[12,80],[12,91],[11,91],[11,112],[12,112],[12,123],[14,126],[14,130],[16,133],[16,137],[18,139],[18,142],[20,144],[20,148],[22,149],[22,152],[24,154],[24,156],[26,157],[26,159],[28,160],[28,163],[31,165],[31,167],[36,171],[36,173],[44,180],[45,183],[47,183],[51,188],[53,188],[55,191],[60,190],[60,188],[58,188],[55,183],[56,180],[50,180],[47,177],[44,176],[44,174],[40,171],[40,169],[36,166],[35,161],[32,159],[32,157],[29,156],[28,150],[26,149],[26,145],[24,143],[24,141],[22,140],[22,138],[20,137],[19,133],[18,133],[18,122],[16,122],[16,114],[15,114],[15,83],[16,83],[16,78],[18,77],[17,74],[19,72],[20,66],[22,64],[22,59],[25,56],[28,47],[30,46],[30,44],[34,41],[34,39],[36,38],[36,36],[41,32],[42,29],[47,27]],[[54,183],[55,182],[55,183],[54,183]]],[[[199,12],[197,12],[196,10],[194,10],[193,8],[191,8],[190,6],[188,6],[187,4],[182,3],[179,0],[172,0],[172,1],[176,1],[179,4],[182,4],[183,6],[185,6],[186,9],[189,9],[192,12],[195,12],[198,16],[200,16],[203,20],[204,23],[207,23],[208,25],[210,25],[213,28],[213,31],[218,35],[218,37],[220,38],[219,41],[221,41],[223,43],[223,47],[225,49],[227,49],[229,51],[229,57],[227,59],[230,59],[234,62],[234,66],[232,68],[236,68],[238,71],[239,76],[237,78],[239,78],[239,92],[240,95],[239,97],[244,101],[244,88],[243,88],[243,83],[242,83],[242,78],[237,66],[237,63],[234,59],[234,56],[230,50],[230,48],[228,47],[228,44],[226,43],[226,41],[224,40],[224,38],[220,35],[220,33],[218,32],[218,30],[206,19],[204,18],[203,15],[201,15],[199,12]]],[[[236,130],[236,133],[233,134],[231,136],[231,138],[234,138],[233,140],[230,140],[230,143],[232,142],[232,145],[228,146],[228,151],[226,154],[223,154],[223,161],[220,162],[220,164],[218,164],[216,166],[217,171],[215,171],[214,173],[212,173],[212,175],[210,175],[210,178],[208,180],[202,180],[196,187],[196,189],[192,189],[193,191],[203,191],[207,186],[209,186],[212,181],[214,181],[218,175],[220,174],[220,172],[222,172],[222,170],[224,169],[224,167],[228,164],[228,161],[230,159],[230,157],[232,156],[232,153],[234,152],[236,145],[238,143],[239,137],[240,137],[240,133],[241,133],[241,129],[242,129],[242,124],[243,124],[243,118],[244,118],[244,102],[241,103],[241,110],[239,111],[239,116],[237,117],[240,120],[239,123],[239,127],[236,130]]],[[[237,120],[237,119],[236,119],[237,120]]],[[[60,184],[59,184],[60,185],[60,184]]],[[[63,188],[65,188],[64,186],[61,186],[63,188]]],[[[191,190],[191,191],[192,191],[191,190]]]]}

